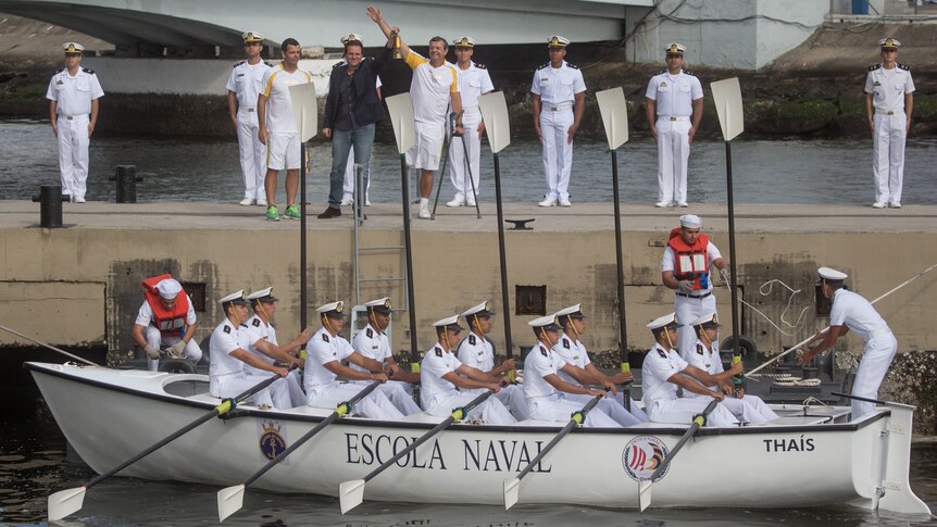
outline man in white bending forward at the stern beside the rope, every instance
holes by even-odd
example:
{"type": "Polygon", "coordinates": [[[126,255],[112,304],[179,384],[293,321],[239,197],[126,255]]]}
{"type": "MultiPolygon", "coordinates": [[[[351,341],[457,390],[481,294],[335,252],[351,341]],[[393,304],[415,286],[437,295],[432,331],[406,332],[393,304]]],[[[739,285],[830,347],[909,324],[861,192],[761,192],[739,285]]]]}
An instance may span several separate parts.
{"type": "MultiPolygon", "coordinates": [[[[855,380],[852,381],[852,394],[877,399],[878,387],[898,352],[898,340],[871,302],[846,289],[846,278],[848,278],[846,273],[820,267],[817,274],[820,275],[817,284],[823,290],[823,296],[833,302],[829,308],[829,328],[813,336],[809,343],[816,341],[820,343],[807,350],[799,362],[807,364],[814,356],[833,348],[836,339],[852,329],[865,341],[859,371],[855,373],[855,380]]],[[[853,421],[874,411],[875,405],[871,402],[852,401],[853,421]]]]}

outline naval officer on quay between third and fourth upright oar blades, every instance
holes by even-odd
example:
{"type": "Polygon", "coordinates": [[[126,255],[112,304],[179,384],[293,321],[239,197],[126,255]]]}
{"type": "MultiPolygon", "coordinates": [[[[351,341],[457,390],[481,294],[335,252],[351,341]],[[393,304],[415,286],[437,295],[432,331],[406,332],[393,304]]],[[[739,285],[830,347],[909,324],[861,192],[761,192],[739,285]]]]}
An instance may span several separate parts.
{"type": "Polygon", "coordinates": [[[573,137],[586,109],[586,81],[583,72],[570,64],[570,39],[553,35],[547,40],[550,62],[534,72],[530,85],[534,129],[544,146],[544,174],[547,193],[540,206],[570,206],[570,173],[573,168],[573,137]]]}

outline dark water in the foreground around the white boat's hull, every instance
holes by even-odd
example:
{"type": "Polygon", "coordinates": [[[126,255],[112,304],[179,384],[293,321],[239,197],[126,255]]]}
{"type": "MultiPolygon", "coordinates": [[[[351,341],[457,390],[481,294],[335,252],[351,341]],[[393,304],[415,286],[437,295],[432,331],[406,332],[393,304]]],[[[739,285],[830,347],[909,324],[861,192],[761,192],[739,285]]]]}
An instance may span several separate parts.
{"type": "MultiPolygon", "coordinates": [[[[41,404],[41,403],[40,403],[41,404]]],[[[0,421],[0,523],[46,525],[46,498],[77,487],[95,474],[66,459],[65,440],[43,406],[24,417],[0,421]]],[[[933,439],[933,438],[932,438],[933,439]]],[[[180,460],[180,462],[184,462],[180,460]]],[[[937,511],[937,441],[916,441],[911,450],[911,486],[937,511]]],[[[232,485],[236,484],[233,481],[232,485]]],[[[717,482],[713,482],[717,485],[717,482]]],[[[585,484],[584,484],[585,485],[585,484]]],[[[215,525],[215,493],[203,485],[145,481],[112,477],[91,488],[83,509],[53,525],[66,526],[201,526],[215,525]]],[[[649,510],[610,511],[574,505],[500,506],[364,502],[346,516],[338,500],[317,495],[284,495],[248,490],[243,509],[224,525],[242,526],[723,526],[854,525],[937,526],[937,519],[902,518],[840,506],[787,510],[649,510]]]]}

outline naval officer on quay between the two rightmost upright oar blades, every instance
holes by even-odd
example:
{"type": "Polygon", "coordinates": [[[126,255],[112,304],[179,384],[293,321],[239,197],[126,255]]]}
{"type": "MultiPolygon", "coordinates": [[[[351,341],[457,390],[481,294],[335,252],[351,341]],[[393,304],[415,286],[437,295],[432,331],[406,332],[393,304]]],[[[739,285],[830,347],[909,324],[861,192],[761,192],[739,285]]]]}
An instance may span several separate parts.
{"type": "Polygon", "coordinates": [[[686,47],[670,43],[667,68],[651,77],[648,123],[658,141],[657,206],[687,206],[687,161],[702,118],[702,85],[683,68],[686,47]],[[690,122],[692,120],[692,122],[690,122]]]}

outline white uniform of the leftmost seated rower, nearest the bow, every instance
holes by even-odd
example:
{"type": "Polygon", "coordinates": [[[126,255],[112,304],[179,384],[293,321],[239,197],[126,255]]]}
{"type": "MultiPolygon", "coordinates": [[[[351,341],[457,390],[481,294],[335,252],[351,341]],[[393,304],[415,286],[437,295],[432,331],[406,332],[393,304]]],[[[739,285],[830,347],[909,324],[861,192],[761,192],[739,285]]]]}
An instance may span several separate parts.
{"type": "MultiPolygon", "coordinates": [[[[223,321],[217,325],[209,340],[209,393],[218,398],[237,397],[254,386],[276,375],[265,372],[266,375],[248,375],[243,371],[245,363],[230,355],[233,351],[243,350],[242,335],[243,326],[235,326],[230,321],[223,321]]],[[[241,404],[250,403],[257,406],[266,404],[277,410],[288,409],[289,389],[284,379],[277,379],[268,387],[257,392],[254,396],[241,401],[241,404]]]]}

